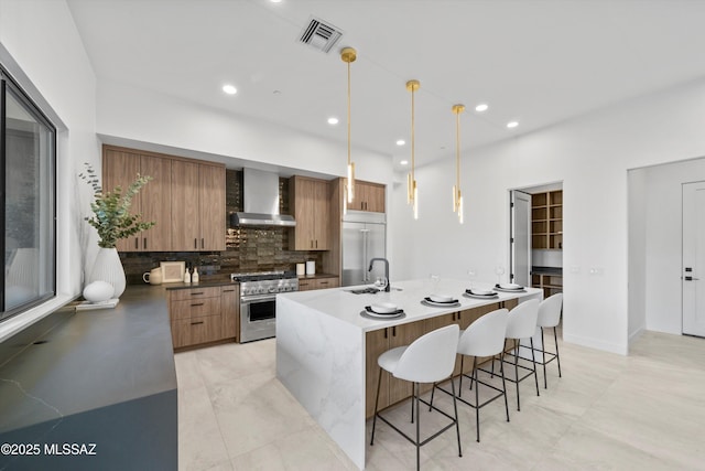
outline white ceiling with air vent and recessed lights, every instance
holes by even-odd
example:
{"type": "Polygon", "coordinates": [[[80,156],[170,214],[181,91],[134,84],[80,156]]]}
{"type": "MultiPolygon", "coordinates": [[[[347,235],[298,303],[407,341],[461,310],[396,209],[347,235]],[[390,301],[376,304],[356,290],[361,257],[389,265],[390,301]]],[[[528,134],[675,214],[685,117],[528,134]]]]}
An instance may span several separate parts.
{"type": "MultiPolygon", "coordinates": [[[[68,0],[98,79],[346,142],[352,46],[352,151],[416,160],[510,139],[705,76],[705,1],[68,0]],[[329,54],[297,40],[315,15],[343,30],[329,54]],[[238,94],[220,87],[231,83],[238,94]],[[276,90],[276,93],[275,93],[276,90]],[[473,110],[478,103],[490,108],[473,110]],[[329,116],[340,118],[337,127],[329,116]],[[508,130],[506,124],[518,120],[508,130]]],[[[467,150],[466,150],[467,151],[467,150]]]]}

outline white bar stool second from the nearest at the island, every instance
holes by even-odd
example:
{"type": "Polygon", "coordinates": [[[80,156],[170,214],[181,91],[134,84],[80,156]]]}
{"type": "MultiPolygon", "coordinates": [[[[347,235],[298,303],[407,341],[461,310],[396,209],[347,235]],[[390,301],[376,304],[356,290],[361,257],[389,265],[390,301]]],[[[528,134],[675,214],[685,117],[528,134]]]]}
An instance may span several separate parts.
{"type": "MultiPolygon", "coordinates": [[[[460,382],[458,385],[458,397],[457,399],[475,409],[475,425],[477,429],[477,441],[480,441],[480,408],[485,407],[489,403],[498,399],[500,397],[505,397],[505,410],[507,413],[507,421],[509,421],[509,404],[507,403],[507,385],[505,383],[505,368],[502,366],[502,355],[505,353],[505,335],[507,332],[507,324],[509,322],[509,310],[508,309],[498,309],[496,311],[489,312],[475,322],[473,322],[465,331],[460,333],[460,340],[458,341],[458,354],[460,355],[460,382]],[[478,371],[482,371],[486,373],[490,373],[486,370],[478,368],[477,366],[477,357],[478,356],[491,356],[491,361],[495,361],[495,357],[499,355],[500,360],[500,375],[502,378],[502,388],[498,388],[497,386],[482,382],[478,378],[478,371]],[[465,356],[474,356],[473,358],[473,375],[467,375],[463,373],[464,360],[465,356]],[[473,389],[473,383],[475,383],[475,404],[471,404],[465,399],[463,399],[463,376],[470,379],[470,389],[473,389]],[[485,387],[489,387],[498,392],[498,394],[488,398],[484,403],[480,404],[479,399],[479,385],[485,387]]],[[[492,373],[494,374],[494,373],[492,373]]],[[[453,383],[453,381],[451,381],[453,383]]],[[[451,394],[448,390],[442,388],[441,386],[435,386],[431,392],[431,404],[433,404],[433,394],[435,393],[436,387],[443,390],[446,394],[451,394]]]]}

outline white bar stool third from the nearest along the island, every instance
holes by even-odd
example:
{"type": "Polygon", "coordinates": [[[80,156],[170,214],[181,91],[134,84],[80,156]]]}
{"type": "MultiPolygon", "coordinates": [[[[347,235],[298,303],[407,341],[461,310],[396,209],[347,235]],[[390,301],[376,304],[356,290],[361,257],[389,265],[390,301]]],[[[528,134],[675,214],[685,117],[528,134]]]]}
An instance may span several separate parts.
{"type": "MultiPolygon", "coordinates": [[[[521,403],[519,399],[519,383],[527,379],[529,376],[533,375],[534,381],[536,383],[536,396],[539,396],[539,375],[536,374],[536,358],[533,354],[533,334],[536,331],[536,318],[539,317],[539,300],[530,299],[524,302],[520,302],[514,309],[509,311],[509,323],[507,324],[507,339],[511,339],[514,341],[514,350],[513,353],[506,353],[507,355],[512,355],[514,357],[514,377],[507,378],[512,383],[517,384],[517,410],[521,410],[521,403]],[[528,367],[525,365],[519,364],[519,349],[520,349],[520,340],[529,339],[531,352],[531,366],[528,367]],[[525,370],[528,373],[523,376],[519,376],[519,368],[525,370]]],[[[528,360],[528,358],[527,358],[528,360]]],[[[529,360],[528,360],[529,361],[529,360]]],[[[505,360],[506,363],[507,360],[505,360]]]]}

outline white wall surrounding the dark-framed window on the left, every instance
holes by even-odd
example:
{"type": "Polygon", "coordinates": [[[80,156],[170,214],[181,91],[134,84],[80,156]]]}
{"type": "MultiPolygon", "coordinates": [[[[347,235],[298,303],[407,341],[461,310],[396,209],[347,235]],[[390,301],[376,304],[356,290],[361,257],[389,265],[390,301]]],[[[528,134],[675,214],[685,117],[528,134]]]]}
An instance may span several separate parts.
{"type": "MultiPolygon", "coordinates": [[[[83,221],[90,211],[89,191],[76,176],[83,162],[99,169],[96,78],[63,0],[0,0],[0,60],[58,128],[56,280],[58,300],[65,301],[80,293],[83,267],[90,264],[85,248],[96,245],[83,221]]],[[[50,309],[3,322],[0,339],[50,309]]]]}

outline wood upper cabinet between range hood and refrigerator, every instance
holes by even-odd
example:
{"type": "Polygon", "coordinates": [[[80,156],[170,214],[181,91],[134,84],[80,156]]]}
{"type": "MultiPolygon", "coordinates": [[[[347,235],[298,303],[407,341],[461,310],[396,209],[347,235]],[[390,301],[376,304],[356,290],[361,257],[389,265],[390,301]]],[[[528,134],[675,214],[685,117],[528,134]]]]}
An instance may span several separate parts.
{"type": "Polygon", "coordinates": [[[296,226],[292,228],[293,250],[328,250],[330,248],[329,185],[325,180],[294,175],[289,181],[289,203],[296,226]]]}

